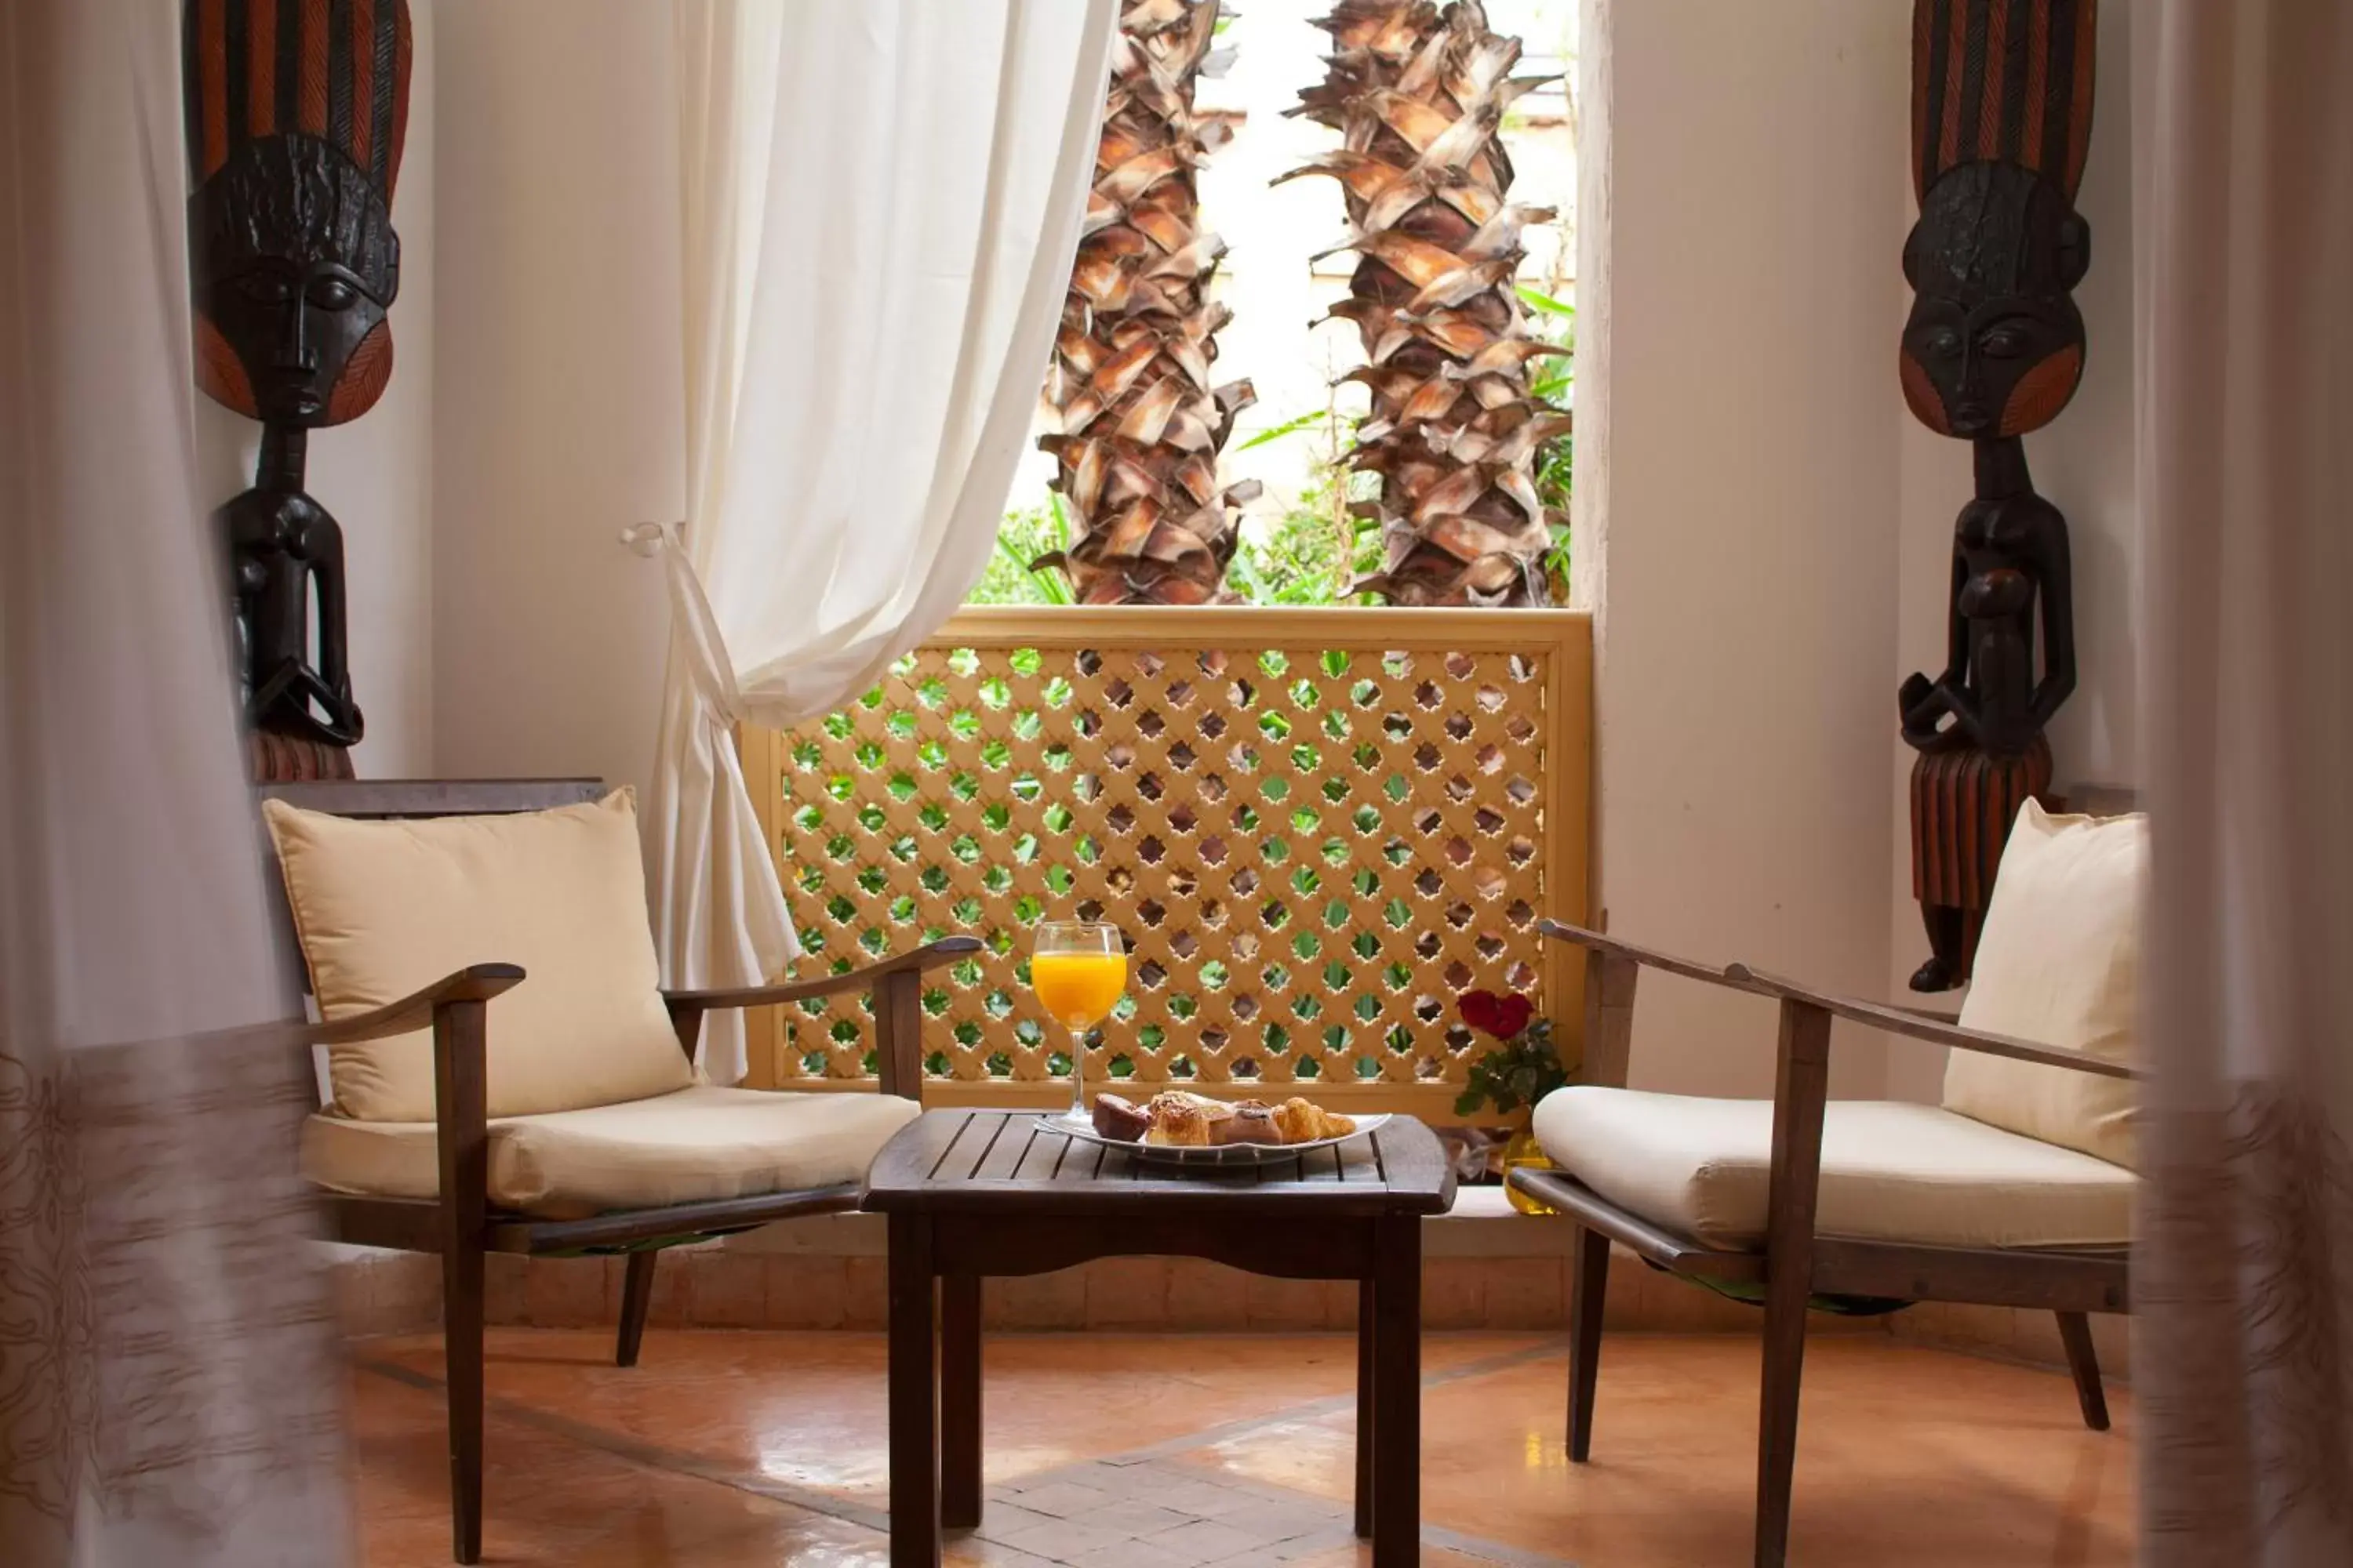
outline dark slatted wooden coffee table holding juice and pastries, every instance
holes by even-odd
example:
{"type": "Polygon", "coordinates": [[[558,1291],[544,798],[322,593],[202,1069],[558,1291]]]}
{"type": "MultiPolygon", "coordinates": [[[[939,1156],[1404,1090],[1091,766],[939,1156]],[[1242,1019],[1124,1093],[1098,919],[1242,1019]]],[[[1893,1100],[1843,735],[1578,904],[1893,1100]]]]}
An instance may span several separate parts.
{"type": "Polygon", "coordinates": [[[1209,1258],[1358,1281],[1355,1530],[1377,1568],[1421,1535],[1421,1218],[1454,1204],[1431,1128],[1273,1166],[1172,1171],[1033,1112],[934,1110],[885,1145],[866,1208],[889,1215],[889,1561],[934,1568],[981,1523],[981,1279],[1092,1258],[1209,1258]],[[934,1284],[939,1291],[934,1340],[934,1284]]]}

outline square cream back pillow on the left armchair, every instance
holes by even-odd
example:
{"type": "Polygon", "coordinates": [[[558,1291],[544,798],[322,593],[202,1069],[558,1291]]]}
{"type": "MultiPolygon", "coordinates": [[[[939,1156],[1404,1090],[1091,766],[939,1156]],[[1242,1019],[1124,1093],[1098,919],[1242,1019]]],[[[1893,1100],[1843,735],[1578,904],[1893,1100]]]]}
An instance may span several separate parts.
{"type": "MultiPolygon", "coordinates": [[[[515,816],[351,820],[264,802],[320,1016],[398,1001],[466,964],[520,964],[489,1004],[489,1114],[694,1084],[661,1006],[628,790],[515,816]]],[[[329,1046],[334,1112],[433,1121],[433,1032],[329,1046]]]]}

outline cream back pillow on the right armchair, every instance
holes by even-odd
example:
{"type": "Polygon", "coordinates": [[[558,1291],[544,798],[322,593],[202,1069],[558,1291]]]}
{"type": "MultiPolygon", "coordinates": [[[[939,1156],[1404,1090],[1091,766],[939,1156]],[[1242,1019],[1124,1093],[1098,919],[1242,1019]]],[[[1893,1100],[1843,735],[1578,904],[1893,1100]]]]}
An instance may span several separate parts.
{"type": "MultiPolygon", "coordinates": [[[[2134,1060],[2148,818],[2019,811],[1993,884],[1960,1023],[1991,1034],[2134,1060]]],[[[1953,1051],[1944,1107],[2132,1166],[2129,1079],[1953,1051]]]]}

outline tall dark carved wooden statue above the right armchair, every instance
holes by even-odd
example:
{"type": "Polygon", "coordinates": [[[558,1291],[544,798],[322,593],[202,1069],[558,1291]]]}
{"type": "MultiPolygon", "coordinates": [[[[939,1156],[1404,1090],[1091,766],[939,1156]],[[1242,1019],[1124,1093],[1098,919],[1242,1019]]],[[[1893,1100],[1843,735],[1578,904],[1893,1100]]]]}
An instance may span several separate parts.
{"type": "Polygon", "coordinates": [[[1904,400],[1977,449],[1977,498],[1953,527],[1946,668],[1899,691],[1920,752],[1920,992],[1969,978],[2012,818],[2052,783],[2042,726],[2075,689],[2066,517],[2035,494],[2021,437],[2082,378],[2071,292],[2092,261],[2075,188],[2094,31],[2097,0],[1913,0],[1920,221],[1904,242],[1904,400]]]}

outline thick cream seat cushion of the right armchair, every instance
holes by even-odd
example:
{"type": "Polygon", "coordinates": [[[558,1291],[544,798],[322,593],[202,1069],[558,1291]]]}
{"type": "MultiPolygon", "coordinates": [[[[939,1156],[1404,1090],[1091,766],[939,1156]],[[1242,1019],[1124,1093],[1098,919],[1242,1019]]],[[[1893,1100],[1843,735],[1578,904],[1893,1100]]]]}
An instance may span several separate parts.
{"type": "MultiPolygon", "coordinates": [[[[1544,1098],[1537,1140],[1619,1208],[1711,1246],[1765,1239],[1772,1100],[1574,1084],[1544,1098]]],[[[2120,1246],[2134,1175],[1934,1105],[1831,1100],[1814,1229],[1920,1246],[2120,1246]]]]}

